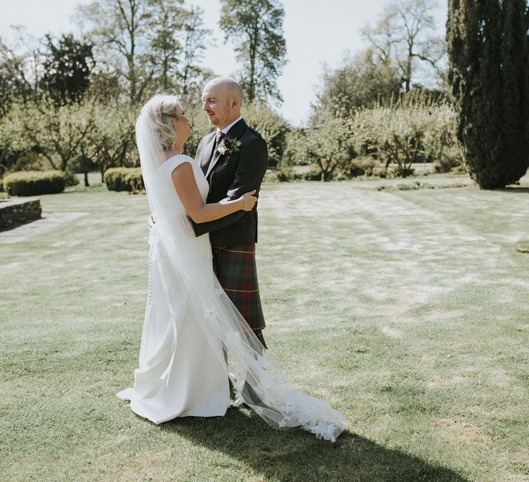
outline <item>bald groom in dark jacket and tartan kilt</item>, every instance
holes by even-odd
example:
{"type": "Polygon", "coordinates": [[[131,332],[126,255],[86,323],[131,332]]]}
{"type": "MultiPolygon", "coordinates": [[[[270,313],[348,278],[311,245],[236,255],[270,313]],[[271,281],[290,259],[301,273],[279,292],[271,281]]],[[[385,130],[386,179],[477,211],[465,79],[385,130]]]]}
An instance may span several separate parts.
{"type": "MultiPolygon", "coordinates": [[[[233,78],[218,77],[203,90],[203,110],[216,127],[198,144],[196,160],[209,183],[207,202],[237,199],[259,190],[268,167],[266,141],[240,115],[242,90],[233,78]]],[[[222,288],[245,318],[262,346],[264,343],[256,271],[257,204],[219,220],[196,224],[197,236],[209,233],[213,266],[222,288]]]]}

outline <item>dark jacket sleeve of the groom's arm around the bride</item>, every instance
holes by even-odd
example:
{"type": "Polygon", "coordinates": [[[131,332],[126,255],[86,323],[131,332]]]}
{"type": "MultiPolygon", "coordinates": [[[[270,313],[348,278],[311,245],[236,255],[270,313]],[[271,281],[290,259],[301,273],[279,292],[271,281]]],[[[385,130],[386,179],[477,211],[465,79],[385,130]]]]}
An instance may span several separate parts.
{"type": "MultiPolygon", "coordinates": [[[[262,178],[264,178],[264,174],[267,171],[268,149],[267,143],[262,137],[256,137],[251,140],[245,150],[245,153],[242,151],[240,153],[241,156],[235,171],[234,180],[226,193],[227,198],[230,200],[238,199],[242,194],[253,191],[253,189],[256,190],[255,196],[258,198],[262,178]]],[[[257,203],[253,209],[257,209],[257,203]]],[[[251,211],[241,210],[214,221],[196,223],[191,220],[191,222],[195,234],[201,236],[205,233],[225,228],[249,212],[251,211]]]]}

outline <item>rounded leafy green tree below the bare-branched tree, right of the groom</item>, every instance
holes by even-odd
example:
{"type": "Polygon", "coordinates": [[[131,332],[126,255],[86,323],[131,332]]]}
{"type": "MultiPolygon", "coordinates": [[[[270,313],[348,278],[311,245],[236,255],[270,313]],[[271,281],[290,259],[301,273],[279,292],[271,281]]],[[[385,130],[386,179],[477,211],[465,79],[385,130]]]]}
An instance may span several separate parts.
{"type": "Polygon", "coordinates": [[[344,60],[333,72],[323,75],[318,103],[335,112],[351,112],[397,96],[400,76],[395,67],[377,58],[373,49],[344,60]]]}

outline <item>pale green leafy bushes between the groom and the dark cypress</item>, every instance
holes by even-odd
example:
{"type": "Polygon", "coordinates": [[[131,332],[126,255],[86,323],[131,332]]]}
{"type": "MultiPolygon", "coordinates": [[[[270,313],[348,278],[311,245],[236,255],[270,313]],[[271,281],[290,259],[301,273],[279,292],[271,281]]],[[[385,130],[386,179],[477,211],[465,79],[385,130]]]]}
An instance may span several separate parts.
{"type": "MultiPolygon", "coordinates": [[[[408,176],[414,163],[438,163],[439,171],[461,165],[455,137],[456,114],[445,101],[422,93],[399,96],[349,116],[316,109],[311,127],[287,136],[282,167],[312,164],[304,178],[329,180],[373,176],[380,163],[386,174],[408,176]]],[[[384,173],[382,173],[384,174],[384,173]]]]}

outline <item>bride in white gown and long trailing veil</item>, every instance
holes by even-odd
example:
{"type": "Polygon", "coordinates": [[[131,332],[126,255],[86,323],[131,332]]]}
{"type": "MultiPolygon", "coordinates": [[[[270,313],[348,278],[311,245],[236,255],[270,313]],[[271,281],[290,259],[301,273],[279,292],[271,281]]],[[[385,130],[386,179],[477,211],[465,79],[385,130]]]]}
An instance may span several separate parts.
{"type": "Polygon", "coordinates": [[[149,235],[149,293],[134,387],[118,393],[154,423],[225,415],[229,380],[236,396],[274,428],[301,426],[335,441],[340,413],[300,393],[220,287],[209,235],[196,238],[189,218],[206,222],[255,205],[253,191],[205,204],[207,180],[181,154],[188,120],[169,95],[154,96],[136,121],[136,142],[156,224],[149,235]]]}

